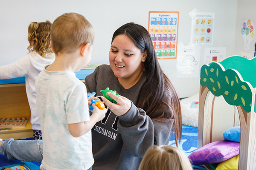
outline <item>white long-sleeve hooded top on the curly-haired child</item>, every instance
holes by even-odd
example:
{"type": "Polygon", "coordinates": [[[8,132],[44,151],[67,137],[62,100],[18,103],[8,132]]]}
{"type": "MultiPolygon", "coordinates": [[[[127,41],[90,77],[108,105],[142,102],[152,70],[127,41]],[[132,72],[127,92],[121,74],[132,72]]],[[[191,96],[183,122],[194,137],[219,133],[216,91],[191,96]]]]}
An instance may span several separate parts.
{"type": "Polygon", "coordinates": [[[52,64],[54,60],[54,54],[52,54],[50,59],[45,59],[38,53],[32,52],[18,59],[16,62],[0,66],[0,79],[12,79],[25,76],[26,94],[31,111],[30,122],[33,130],[41,130],[36,105],[35,79],[44,69],[44,66],[52,64]]]}

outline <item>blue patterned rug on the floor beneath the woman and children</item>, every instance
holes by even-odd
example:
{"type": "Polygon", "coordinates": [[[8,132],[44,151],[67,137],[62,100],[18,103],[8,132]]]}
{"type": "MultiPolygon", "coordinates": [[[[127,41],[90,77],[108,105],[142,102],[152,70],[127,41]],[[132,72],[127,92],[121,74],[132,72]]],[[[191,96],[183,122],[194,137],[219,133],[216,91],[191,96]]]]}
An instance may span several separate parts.
{"type": "MultiPolygon", "coordinates": [[[[191,126],[182,126],[182,139],[178,144],[178,148],[182,150],[186,156],[189,156],[193,151],[197,149],[197,136],[198,136],[198,128],[191,126]]],[[[32,139],[32,138],[31,138],[32,139]]],[[[29,140],[29,139],[25,139],[29,140]]],[[[176,146],[174,136],[172,136],[169,145],[176,146]]],[[[39,166],[41,163],[38,162],[26,162],[26,161],[14,161],[8,160],[6,156],[0,155],[0,167],[18,163],[25,163],[32,170],[40,170],[39,166]]],[[[194,170],[207,170],[203,166],[193,165],[194,170]]]]}

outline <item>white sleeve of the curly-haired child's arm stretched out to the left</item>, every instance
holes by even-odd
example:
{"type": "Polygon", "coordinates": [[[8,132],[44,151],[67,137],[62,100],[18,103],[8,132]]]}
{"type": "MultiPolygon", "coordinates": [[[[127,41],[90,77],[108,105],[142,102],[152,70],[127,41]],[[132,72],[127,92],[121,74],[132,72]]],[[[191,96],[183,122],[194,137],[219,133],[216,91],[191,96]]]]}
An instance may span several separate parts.
{"type": "Polygon", "coordinates": [[[30,60],[26,55],[11,64],[0,66],[0,79],[26,76],[29,73],[29,67],[30,60]]]}

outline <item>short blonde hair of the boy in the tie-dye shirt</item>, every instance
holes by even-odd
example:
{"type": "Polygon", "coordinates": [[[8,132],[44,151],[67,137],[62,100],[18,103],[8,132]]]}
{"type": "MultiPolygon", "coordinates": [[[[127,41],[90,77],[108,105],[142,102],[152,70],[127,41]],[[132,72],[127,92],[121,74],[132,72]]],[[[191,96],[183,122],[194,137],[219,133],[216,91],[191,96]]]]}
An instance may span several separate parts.
{"type": "Polygon", "coordinates": [[[72,53],[83,44],[93,44],[93,26],[81,14],[66,13],[52,23],[51,40],[55,54],[72,53]]]}

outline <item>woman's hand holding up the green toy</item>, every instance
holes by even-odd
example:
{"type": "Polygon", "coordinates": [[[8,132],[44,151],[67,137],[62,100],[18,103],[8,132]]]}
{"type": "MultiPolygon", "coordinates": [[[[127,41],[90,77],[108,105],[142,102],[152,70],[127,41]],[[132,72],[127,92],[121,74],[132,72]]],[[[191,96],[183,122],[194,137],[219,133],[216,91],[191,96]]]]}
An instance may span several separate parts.
{"type": "Polygon", "coordinates": [[[131,101],[124,96],[116,96],[115,94],[108,92],[108,95],[112,97],[117,103],[112,103],[108,99],[102,96],[103,102],[110,108],[110,110],[116,116],[122,116],[131,108],[131,101]]]}

